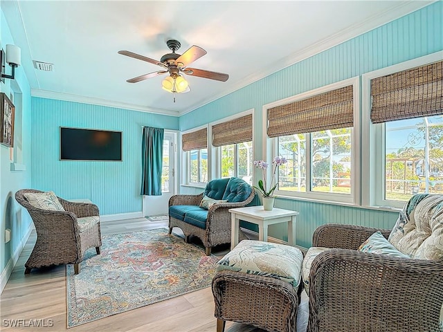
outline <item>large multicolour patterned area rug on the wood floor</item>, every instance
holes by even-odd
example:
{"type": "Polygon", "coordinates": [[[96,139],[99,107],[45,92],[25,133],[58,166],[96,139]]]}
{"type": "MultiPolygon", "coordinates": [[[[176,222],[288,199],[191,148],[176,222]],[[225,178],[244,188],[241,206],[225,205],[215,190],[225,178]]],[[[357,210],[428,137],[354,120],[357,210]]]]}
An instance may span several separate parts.
{"type": "Polygon", "coordinates": [[[217,261],[165,228],[102,237],[66,266],[68,328],[208,287],[217,261]]]}

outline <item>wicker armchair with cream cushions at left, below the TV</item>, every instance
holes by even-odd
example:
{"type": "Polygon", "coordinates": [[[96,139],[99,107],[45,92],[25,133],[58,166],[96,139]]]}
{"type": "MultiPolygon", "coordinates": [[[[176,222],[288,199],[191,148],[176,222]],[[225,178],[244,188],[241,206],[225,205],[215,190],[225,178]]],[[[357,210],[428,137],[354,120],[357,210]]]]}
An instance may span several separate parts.
{"type": "Polygon", "coordinates": [[[53,192],[24,189],[15,199],[33,219],[37,241],[25,264],[25,274],[32,268],[74,264],[80,273],[84,252],[96,248],[100,254],[100,216],[97,205],[73,203],[55,196],[53,192]]]}

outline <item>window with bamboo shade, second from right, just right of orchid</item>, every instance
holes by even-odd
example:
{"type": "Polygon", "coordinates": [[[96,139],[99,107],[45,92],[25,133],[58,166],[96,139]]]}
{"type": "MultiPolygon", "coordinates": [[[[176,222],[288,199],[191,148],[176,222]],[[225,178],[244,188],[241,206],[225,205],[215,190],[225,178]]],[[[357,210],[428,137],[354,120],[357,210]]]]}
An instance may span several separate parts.
{"type": "Polygon", "coordinates": [[[272,155],[288,160],[278,169],[276,194],[359,201],[357,84],[356,79],[346,80],[294,96],[289,103],[267,105],[272,155]]]}

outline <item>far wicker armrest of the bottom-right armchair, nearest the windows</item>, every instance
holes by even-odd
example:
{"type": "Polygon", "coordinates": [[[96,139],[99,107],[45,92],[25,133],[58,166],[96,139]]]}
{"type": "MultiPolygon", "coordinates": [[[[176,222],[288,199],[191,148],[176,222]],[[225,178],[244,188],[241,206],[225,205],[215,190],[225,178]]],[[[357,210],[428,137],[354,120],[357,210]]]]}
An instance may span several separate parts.
{"type": "Polygon", "coordinates": [[[357,250],[374,232],[380,231],[388,239],[391,230],[341,223],[326,223],[314,231],[312,246],[357,250]]]}

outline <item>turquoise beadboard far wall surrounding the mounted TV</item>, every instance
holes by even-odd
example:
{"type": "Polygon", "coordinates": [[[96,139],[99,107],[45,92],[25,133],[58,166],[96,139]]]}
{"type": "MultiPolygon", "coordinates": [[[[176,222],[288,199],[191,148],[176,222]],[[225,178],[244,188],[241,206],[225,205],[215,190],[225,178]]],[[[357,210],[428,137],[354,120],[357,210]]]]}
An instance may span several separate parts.
{"type": "Polygon", "coordinates": [[[32,186],[64,199],[90,199],[100,214],[142,211],[142,126],[177,130],[179,118],[32,98],[32,186]],[[123,131],[123,161],[60,160],[60,127],[123,131]]]}

